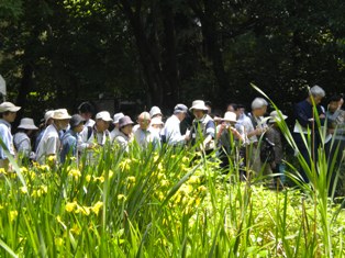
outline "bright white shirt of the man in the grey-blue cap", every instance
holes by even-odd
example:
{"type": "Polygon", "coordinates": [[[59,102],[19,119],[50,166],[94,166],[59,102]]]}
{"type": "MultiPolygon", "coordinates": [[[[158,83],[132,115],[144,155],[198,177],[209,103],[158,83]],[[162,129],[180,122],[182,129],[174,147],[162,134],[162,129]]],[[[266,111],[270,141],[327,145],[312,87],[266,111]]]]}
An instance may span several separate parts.
{"type": "Polygon", "coordinates": [[[181,135],[180,121],[172,114],[163,128],[162,135],[166,137],[166,142],[171,145],[183,144],[185,136],[181,135]]]}

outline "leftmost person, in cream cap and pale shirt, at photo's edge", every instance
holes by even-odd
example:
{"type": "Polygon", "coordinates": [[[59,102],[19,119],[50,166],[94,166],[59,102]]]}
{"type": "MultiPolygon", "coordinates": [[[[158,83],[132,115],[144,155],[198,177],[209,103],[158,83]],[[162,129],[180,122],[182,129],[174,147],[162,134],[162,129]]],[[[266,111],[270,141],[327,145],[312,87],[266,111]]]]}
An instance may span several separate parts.
{"type": "Polygon", "coordinates": [[[11,123],[14,122],[16,112],[20,109],[21,106],[16,106],[11,102],[3,102],[0,104],[0,137],[8,152],[7,154],[0,145],[0,168],[3,168],[5,171],[11,170],[8,155],[11,155],[12,157],[15,155],[11,123]]]}

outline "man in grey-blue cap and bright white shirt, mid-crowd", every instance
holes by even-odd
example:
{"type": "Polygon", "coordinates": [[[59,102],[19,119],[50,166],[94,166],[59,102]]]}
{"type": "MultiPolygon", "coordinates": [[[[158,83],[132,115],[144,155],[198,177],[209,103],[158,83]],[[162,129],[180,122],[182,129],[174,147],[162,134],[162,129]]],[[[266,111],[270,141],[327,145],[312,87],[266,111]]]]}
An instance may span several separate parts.
{"type": "Polygon", "coordinates": [[[183,145],[189,135],[181,135],[180,123],[186,119],[188,108],[185,104],[177,104],[174,108],[174,114],[166,121],[162,131],[164,143],[169,145],[183,145]]]}

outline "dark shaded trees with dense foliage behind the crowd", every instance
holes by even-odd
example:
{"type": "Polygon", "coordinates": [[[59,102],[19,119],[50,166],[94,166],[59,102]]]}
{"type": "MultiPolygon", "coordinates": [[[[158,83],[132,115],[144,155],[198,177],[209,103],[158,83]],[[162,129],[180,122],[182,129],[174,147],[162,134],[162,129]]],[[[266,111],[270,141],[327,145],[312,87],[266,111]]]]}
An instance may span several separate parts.
{"type": "Polygon", "coordinates": [[[307,86],[344,91],[344,13],[343,0],[1,1],[0,74],[36,117],[100,97],[225,109],[257,96],[251,82],[288,110],[307,86]]]}

